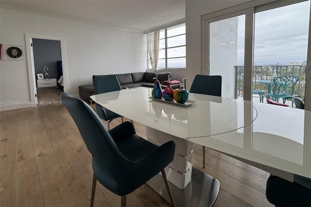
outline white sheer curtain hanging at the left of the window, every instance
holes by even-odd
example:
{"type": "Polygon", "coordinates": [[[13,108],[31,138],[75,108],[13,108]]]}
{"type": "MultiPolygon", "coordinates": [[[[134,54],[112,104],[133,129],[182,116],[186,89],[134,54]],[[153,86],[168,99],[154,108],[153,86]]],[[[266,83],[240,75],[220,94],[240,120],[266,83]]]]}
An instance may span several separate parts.
{"type": "Polygon", "coordinates": [[[156,72],[157,61],[159,59],[160,31],[147,34],[147,47],[152,70],[156,72]]]}

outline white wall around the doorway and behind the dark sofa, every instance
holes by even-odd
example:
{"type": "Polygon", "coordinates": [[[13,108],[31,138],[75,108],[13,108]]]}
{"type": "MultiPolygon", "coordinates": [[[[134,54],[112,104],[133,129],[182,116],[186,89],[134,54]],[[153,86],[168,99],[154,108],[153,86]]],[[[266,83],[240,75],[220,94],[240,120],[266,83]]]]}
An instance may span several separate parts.
{"type": "MultiPolygon", "coordinates": [[[[98,27],[58,18],[0,8],[0,43],[22,45],[25,33],[65,38],[68,88],[92,84],[92,75],[145,71],[146,37],[143,34],[98,27]]],[[[27,54],[25,60],[0,61],[0,102],[30,101],[27,54]]],[[[30,105],[0,105],[0,111],[30,105]]]]}

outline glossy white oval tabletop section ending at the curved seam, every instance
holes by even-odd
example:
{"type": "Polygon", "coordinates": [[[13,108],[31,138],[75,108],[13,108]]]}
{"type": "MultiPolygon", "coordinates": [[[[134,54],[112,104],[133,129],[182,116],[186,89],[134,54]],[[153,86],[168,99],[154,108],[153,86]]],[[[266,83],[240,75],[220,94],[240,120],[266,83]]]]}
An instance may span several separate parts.
{"type": "Polygon", "coordinates": [[[236,131],[257,117],[252,104],[243,100],[190,93],[189,100],[196,103],[184,107],[149,99],[151,89],[135,88],[109,94],[98,94],[94,101],[133,121],[180,138],[236,131]],[[126,107],[117,102],[126,103],[126,107]]]}

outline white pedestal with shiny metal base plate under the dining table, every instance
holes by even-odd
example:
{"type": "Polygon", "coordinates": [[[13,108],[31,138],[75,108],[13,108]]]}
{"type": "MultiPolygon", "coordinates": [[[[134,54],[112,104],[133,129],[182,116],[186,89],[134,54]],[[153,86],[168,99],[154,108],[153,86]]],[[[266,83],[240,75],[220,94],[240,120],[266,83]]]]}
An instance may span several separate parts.
{"type": "MultiPolygon", "coordinates": [[[[147,126],[146,136],[148,140],[158,145],[168,140],[174,140],[176,143],[174,160],[165,168],[175,205],[211,207],[217,198],[220,184],[217,179],[192,167],[193,143],[147,126]]],[[[160,174],[151,178],[147,184],[170,202],[160,174]]]]}

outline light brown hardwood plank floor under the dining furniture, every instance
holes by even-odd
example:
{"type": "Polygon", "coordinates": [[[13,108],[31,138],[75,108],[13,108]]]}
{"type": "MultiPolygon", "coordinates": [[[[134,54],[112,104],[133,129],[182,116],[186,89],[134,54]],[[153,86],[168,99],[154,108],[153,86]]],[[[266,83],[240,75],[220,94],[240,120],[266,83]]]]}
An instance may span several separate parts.
{"type": "MultiPolygon", "coordinates": [[[[38,102],[58,101],[60,90],[40,91],[38,102]]],[[[93,104],[94,108],[94,104],[93,104]]],[[[0,112],[0,206],[56,207],[90,204],[91,155],[61,104],[0,112]]],[[[111,128],[121,119],[111,122],[111,128]]],[[[104,121],[105,126],[106,122],[104,121]]],[[[145,137],[144,126],[134,123],[145,137]]],[[[220,181],[214,207],[269,207],[265,185],[269,173],[195,145],[193,166],[220,181]]],[[[146,184],[127,196],[128,207],[170,206],[146,184]]],[[[94,206],[120,207],[121,198],[96,187],[94,206]]]]}

